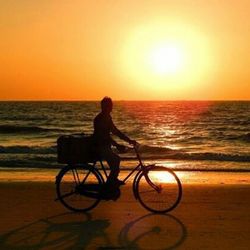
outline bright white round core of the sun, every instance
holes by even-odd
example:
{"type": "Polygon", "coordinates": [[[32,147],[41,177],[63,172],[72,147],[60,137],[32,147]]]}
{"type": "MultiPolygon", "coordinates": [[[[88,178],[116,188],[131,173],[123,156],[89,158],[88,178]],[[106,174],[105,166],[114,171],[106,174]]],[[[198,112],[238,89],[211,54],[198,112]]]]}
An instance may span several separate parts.
{"type": "Polygon", "coordinates": [[[156,45],[149,52],[148,63],[156,74],[175,74],[184,65],[184,52],[175,45],[156,45]]]}

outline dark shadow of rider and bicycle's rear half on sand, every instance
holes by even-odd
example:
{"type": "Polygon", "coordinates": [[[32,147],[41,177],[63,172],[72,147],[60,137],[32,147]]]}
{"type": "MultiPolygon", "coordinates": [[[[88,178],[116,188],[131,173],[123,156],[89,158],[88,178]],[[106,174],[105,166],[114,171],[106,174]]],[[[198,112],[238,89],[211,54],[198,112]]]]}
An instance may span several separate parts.
{"type": "Polygon", "coordinates": [[[107,245],[109,225],[109,220],[92,220],[88,213],[63,213],[0,235],[0,249],[85,249],[97,238],[107,245]]]}

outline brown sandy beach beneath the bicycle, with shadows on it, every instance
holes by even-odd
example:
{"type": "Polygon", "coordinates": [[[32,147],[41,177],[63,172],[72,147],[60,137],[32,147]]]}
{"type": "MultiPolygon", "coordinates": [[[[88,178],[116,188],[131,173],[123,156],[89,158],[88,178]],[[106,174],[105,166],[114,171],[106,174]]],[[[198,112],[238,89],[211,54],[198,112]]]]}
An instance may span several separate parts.
{"type": "Polygon", "coordinates": [[[182,201],[167,215],[142,208],[131,183],[118,201],[76,214],[54,201],[52,181],[2,180],[0,249],[250,249],[249,173],[235,183],[222,176],[184,181],[182,201]]]}

